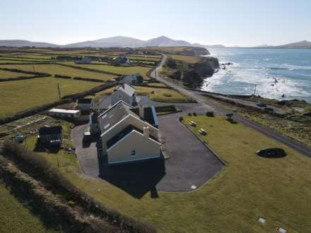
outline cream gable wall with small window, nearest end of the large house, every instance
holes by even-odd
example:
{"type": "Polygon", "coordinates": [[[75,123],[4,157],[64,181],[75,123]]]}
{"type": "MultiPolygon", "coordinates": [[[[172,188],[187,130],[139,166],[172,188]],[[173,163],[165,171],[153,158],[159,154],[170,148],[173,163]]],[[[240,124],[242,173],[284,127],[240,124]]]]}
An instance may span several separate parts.
{"type": "Polygon", "coordinates": [[[129,162],[160,157],[160,143],[131,131],[107,150],[108,163],[129,162]]]}

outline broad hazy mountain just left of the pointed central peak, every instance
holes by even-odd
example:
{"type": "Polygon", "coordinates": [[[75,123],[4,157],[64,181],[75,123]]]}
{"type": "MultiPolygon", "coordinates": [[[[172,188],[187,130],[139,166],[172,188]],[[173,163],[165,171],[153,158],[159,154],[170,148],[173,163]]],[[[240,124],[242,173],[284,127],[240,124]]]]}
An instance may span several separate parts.
{"type": "Polygon", "coordinates": [[[135,47],[137,44],[143,43],[143,40],[139,40],[132,37],[107,37],[99,40],[90,40],[86,42],[78,42],[74,44],[66,44],[62,47],[135,47]]]}

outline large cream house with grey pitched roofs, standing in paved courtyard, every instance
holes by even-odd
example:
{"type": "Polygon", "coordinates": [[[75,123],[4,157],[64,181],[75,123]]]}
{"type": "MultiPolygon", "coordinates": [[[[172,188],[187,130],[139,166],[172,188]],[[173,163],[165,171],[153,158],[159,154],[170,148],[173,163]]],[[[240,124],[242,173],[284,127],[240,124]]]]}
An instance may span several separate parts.
{"type": "Polygon", "coordinates": [[[161,155],[154,107],[134,108],[119,101],[98,116],[102,153],[108,164],[158,158],[161,155]]]}

